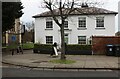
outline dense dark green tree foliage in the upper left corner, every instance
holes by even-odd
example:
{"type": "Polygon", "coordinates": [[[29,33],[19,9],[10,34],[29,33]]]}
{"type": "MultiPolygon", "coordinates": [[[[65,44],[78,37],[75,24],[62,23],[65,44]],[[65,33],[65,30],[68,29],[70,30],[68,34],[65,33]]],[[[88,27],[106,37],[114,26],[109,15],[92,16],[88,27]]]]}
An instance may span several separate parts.
{"type": "Polygon", "coordinates": [[[23,15],[21,2],[2,2],[2,32],[12,29],[15,19],[23,15]]]}

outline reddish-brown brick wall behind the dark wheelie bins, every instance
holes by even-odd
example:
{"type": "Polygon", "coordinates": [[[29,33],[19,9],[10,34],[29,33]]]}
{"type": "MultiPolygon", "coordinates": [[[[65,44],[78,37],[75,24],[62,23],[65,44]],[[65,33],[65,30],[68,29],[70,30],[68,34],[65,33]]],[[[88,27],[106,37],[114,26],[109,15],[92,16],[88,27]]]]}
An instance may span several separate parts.
{"type": "Polygon", "coordinates": [[[106,54],[107,44],[120,44],[117,36],[92,36],[93,54],[106,54]]]}

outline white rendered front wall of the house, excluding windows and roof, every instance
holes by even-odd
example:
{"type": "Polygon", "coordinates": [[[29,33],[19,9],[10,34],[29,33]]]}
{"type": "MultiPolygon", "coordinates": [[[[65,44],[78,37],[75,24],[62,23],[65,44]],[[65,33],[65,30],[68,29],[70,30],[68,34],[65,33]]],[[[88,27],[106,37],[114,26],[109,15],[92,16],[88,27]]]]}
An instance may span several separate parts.
{"type": "MultiPolygon", "coordinates": [[[[86,36],[87,39],[92,35],[96,36],[115,36],[115,15],[90,15],[90,16],[70,16],[68,17],[68,44],[78,44],[78,36],[86,36]],[[96,29],[96,16],[104,17],[105,29],[96,29]],[[86,17],[85,30],[78,30],[78,17],[86,17]]],[[[60,44],[60,28],[53,21],[53,30],[46,29],[46,17],[35,19],[35,43],[46,44],[45,36],[53,36],[53,43],[60,44]]]]}

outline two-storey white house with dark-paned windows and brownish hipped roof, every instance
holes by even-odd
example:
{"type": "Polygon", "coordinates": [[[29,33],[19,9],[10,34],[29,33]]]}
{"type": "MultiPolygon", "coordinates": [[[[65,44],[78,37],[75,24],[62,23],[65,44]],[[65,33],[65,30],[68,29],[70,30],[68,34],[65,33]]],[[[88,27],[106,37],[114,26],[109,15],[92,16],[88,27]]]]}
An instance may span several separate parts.
{"type": "MultiPolygon", "coordinates": [[[[59,18],[59,10],[54,14],[59,18]]],[[[117,12],[96,7],[75,8],[65,21],[65,41],[68,44],[90,44],[91,36],[115,36],[117,12]]],[[[35,43],[60,44],[60,28],[50,11],[33,16],[35,18],[35,43]]]]}

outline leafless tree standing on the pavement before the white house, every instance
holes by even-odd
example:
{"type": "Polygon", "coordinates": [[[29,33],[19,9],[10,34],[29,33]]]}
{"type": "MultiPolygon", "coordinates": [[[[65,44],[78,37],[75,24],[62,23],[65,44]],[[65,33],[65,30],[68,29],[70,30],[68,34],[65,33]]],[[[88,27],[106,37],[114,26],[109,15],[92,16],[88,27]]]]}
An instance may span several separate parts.
{"type": "MultiPolygon", "coordinates": [[[[88,0],[87,0],[88,1],[88,0]]],[[[68,16],[76,10],[77,6],[88,7],[82,0],[44,0],[45,7],[50,10],[50,15],[55,23],[60,27],[61,32],[61,60],[65,60],[65,40],[64,40],[64,22],[68,16]],[[80,2],[81,1],[81,2],[80,2]],[[79,4],[79,3],[81,4],[79,4]],[[84,3],[84,4],[83,4],[84,3]],[[59,16],[59,18],[58,18],[59,16]],[[59,21],[60,20],[60,21],[59,21]]],[[[94,4],[94,3],[90,3],[94,4]]],[[[97,3],[95,3],[97,4],[97,3]]],[[[82,12],[82,10],[80,11],[82,12]]]]}

